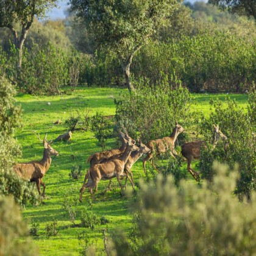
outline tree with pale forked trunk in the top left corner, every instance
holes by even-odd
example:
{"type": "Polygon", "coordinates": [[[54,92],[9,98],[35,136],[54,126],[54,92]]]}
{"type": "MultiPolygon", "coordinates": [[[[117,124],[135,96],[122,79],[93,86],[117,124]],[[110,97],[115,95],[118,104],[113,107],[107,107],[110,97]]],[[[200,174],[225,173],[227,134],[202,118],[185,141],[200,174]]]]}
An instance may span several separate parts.
{"type": "Polygon", "coordinates": [[[46,10],[54,7],[57,0],[2,0],[0,1],[0,27],[7,27],[12,32],[15,48],[19,52],[16,63],[17,71],[20,73],[23,45],[27,33],[32,26],[35,16],[42,18],[46,10]],[[18,32],[16,24],[20,25],[21,31],[18,32]]]}

